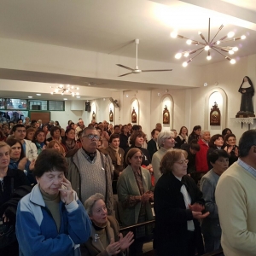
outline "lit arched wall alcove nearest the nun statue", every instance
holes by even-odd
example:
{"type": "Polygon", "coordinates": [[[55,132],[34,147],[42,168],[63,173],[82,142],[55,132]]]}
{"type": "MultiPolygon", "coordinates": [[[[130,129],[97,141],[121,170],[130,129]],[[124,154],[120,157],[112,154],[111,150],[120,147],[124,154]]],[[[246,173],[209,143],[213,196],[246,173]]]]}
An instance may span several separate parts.
{"type": "Polygon", "coordinates": [[[205,97],[205,119],[204,127],[202,128],[212,131],[211,135],[221,133],[221,131],[226,127],[227,111],[227,95],[225,91],[221,88],[209,90],[205,97]],[[218,104],[218,108],[221,113],[220,125],[217,126],[210,125],[210,112],[214,102],[218,104]]]}

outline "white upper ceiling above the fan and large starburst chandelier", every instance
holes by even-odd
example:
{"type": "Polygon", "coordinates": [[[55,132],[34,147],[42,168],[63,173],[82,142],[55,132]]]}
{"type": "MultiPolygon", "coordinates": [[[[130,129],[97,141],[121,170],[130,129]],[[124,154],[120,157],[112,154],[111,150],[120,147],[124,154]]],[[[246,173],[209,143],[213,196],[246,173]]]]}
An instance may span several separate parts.
{"type": "MultiPolygon", "coordinates": [[[[200,41],[197,32],[201,31],[207,38],[210,17],[211,38],[223,22],[227,25],[217,38],[230,31],[236,32],[236,37],[247,36],[239,44],[237,41],[229,44],[239,46],[235,57],[256,53],[255,0],[0,0],[0,7],[1,38],[134,58],[134,39],[139,38],[139,60],[181,64],[183,61],[176,60],[174,55],[196,46],[188,46],[183,39],[170,38],[170,32],[176,29],[179,34],[200,41]]],[[[212,53],[211,63],[223,60],[222,55],[212,53]]],[[[206,64],[204,52],[191,63],[206,64]]],[[[0,79],[12,79],[2,74],[0,72],[0,79]]],[[[49,81],[52,82],[50,74],[49,81]]],[[[86,79],[79,81],[84,85],[86,79]]],[[[114,88],[113,81],[104,81],[104,88],[114,88]]],[[[128,89],[132,89],[132,84],[128,85],[128,89]]],[[[127,90],[127,84],[123,87],[121,84],[120,89],[127,90]]]]}

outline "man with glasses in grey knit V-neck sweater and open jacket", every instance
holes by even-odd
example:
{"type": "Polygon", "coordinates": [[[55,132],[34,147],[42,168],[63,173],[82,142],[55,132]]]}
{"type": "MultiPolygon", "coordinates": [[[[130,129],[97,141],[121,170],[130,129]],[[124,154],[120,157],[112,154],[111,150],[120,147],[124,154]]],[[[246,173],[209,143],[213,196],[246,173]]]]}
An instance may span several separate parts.
{"type": "Polygon", "coordinates": [[[91,195],[101,193],[105,197],[108,214],[113,213],[113,165],[109,155],[97,150],[100,139],[96,128],[89,126],[83,130],[82,148],[67,154],[67,179],[84,202],[91,195]]]}

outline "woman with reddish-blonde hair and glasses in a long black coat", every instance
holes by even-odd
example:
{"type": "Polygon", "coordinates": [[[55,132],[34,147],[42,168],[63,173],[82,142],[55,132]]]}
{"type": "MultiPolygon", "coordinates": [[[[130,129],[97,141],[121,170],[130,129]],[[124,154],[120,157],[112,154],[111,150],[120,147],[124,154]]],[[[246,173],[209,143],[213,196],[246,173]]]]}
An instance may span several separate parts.
{"type": "Polygon", "coordinates": [[[205,201],[201,190],[187,174],[187,153],[166,152],[160,163],[160,177],[154,188],[154,247],[161,256],[195,256],[204,253],[199,219],[205,201]]]}

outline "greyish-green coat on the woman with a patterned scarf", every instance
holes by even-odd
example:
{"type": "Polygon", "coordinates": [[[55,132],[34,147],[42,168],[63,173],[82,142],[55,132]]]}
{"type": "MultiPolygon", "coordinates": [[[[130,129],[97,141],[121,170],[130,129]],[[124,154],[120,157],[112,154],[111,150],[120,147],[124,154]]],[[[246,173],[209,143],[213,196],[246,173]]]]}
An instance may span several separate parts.
{"type": "MultiPolygon", "coordinates": [[[[141,167],[142,176],[143,176],[143,188],[147,192],[153,191],[153,186],[151,184],[151,175],[148,170],[141,167]]],[[[124,207],[124,202],[129,197],[129,195],[140,195],[140,190],[138,189],[137,182],[131,166],[127,166],[125,170],[119,177],[117,183],[117,192],[119,196],[119,205],[120,205],[120,219],[121,223],[125,226],[131,226],[137,224],[139,218],[139,212],[141,209],[141,202],[138,202],[134,207],[124,207]]],[[[150,202],[146,203],[146,214],[147,220],[153,219],[152,209],[150,202]]]]}

